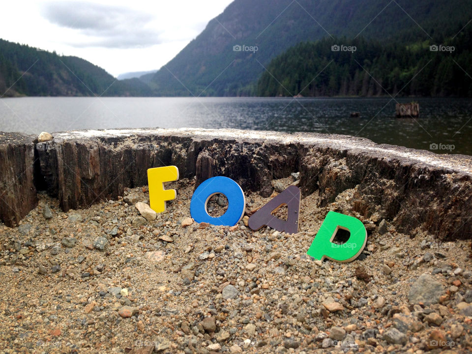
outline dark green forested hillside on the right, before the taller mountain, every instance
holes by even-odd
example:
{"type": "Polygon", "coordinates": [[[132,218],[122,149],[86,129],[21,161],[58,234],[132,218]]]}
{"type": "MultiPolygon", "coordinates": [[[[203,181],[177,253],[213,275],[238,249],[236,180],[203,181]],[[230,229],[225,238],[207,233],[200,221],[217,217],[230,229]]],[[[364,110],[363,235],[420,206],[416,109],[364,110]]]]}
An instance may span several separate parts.
{"type": "Polygon", "coordinates": [[[257,95],[472,97],[472,29],[445,39],[438,51],[430,45],[362,38],[300,43],[270,62],[257,95]],[[332,50],[341,44],[356,50],[332,50]]]}

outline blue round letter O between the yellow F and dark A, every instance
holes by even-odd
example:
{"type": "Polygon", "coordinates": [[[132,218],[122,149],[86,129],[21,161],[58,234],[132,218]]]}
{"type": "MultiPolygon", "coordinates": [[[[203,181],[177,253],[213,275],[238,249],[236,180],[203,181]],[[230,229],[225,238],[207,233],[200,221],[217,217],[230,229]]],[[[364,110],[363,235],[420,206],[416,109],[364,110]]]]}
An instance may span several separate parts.
{"type": "Polygon", "coordinates": [[[244,215],[246,199],[239,184],[228,177],[211,177],[200,184],[190,201],[190,215],[198,222],[212,225],[235,226],[244,215]],[[207,203],[212,195],[221,193],[228,198],[228,209],[219,217],[211,217],[207,212],[207,203]]]}

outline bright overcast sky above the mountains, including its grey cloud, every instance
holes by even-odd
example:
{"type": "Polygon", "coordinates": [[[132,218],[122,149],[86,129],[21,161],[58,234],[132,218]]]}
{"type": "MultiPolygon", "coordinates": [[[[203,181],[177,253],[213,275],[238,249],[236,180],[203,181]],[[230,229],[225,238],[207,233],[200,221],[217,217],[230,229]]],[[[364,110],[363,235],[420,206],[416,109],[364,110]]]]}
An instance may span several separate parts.
{"type": "Polygon", "coordinates": [[[89,60],[116,77],[159,69],[232,1],[3,1],[0,38],[89,60]]]}

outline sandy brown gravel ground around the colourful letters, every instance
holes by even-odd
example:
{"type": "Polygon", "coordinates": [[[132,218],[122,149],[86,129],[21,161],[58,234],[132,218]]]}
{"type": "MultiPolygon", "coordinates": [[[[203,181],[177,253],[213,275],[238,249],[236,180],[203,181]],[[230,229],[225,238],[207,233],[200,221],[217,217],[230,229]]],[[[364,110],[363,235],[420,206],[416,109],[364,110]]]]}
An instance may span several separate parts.
{"type": "MultiPolygon", "coordinates": [[[[140,187],[69,212],[40,195],[19,227],[0,224],[0,353],[471,352],[470,241],[398,233],[348,207],[355,188],[302,199],[295,235],[198,224],[194,180],[166,188],[177,200],[155,220],[140,187]],[[368,225],[362,260],[306,255],[329,210],[368,225]]],[[[246,193],[248,211],[267,201],[246,193]]]]}

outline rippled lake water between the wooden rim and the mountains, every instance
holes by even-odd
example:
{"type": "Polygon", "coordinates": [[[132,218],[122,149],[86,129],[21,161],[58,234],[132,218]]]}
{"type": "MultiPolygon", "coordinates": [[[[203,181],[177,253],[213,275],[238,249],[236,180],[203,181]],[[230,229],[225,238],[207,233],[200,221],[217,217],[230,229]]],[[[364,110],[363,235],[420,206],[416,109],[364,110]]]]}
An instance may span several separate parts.
{"type": "MultiPolygon", "coordinates": [[[[411,98],[396,98],[410,102],[411,98]]],[[[418,98],[395,118],[390,98],[22,97],[0,99],[0,131],[236,128],[347,134],[376,143],[472,155],[472,100],[418,98]],[[351,118],[351,112],[360,117],[351,118]]]]}

